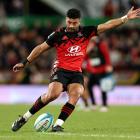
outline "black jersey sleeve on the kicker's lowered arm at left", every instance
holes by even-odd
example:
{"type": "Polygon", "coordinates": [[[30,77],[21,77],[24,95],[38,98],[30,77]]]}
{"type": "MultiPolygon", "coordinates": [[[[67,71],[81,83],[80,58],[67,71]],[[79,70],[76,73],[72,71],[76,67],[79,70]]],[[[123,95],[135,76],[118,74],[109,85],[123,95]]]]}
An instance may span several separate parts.
{"type": "Polygon", "coordinates": [[[55,43],[57,43],[57,37],[58,37],[58,33],[57,32],[52,32],[46,39],[46,43],[50,46],[50,47],[54,47],[55,43]]]}

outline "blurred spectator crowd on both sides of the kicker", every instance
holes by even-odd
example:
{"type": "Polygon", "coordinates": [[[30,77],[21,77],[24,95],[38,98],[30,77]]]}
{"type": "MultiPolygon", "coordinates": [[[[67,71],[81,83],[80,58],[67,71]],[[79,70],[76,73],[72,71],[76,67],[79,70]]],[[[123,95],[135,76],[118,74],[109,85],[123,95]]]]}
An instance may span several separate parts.
{"type": "MultiPolygon", "coordinates": [[[[28,29],[22,27],[16,33],[7,26],[0,28],[0,82],[1,83],[47,83],[55,58],[55,51],[42,54],[30,67],[20,73],[13,73],[12,67],[25,59],[31,50],[42,43],[54,30],[53,27],[28,29]]],[[[110,47],[115,69],[140,70],[140,29],[120,28],[104,35],[110,47]]]]}

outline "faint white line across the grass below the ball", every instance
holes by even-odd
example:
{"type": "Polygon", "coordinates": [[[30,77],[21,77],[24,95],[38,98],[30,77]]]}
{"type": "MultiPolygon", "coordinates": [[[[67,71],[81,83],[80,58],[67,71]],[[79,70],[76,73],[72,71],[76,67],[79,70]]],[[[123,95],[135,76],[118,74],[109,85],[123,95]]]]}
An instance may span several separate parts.
{"type": "MultiPolygon", "coordinates": [[[[38,133],[34,136],[44,137],[45,135],[52,135],[52,136],[82,136],[82,137],[97,137],[97,138],[126,138],[126,139],[140,139],[140,136],[133,136],[133,135],[107,135],[107,134],[81,134],[81,133],[38,133]],[[39,134],[39,135],[38,135],[39,134]]],[[[7,136],[0,136],[4,139],[10,138],[30,138],[30,136],[25,135],[7,135],[7,136]]],[[[31,136],[32,137],[32,136],[31,136]]]]}

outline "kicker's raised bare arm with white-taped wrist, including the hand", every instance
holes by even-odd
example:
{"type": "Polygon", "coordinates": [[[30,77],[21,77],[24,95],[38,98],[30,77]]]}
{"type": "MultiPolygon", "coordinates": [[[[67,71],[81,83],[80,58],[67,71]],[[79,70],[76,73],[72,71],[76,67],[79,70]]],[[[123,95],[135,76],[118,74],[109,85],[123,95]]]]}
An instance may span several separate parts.
{"type": "Polygon", "coordinates": [[[140,18],[140,8],[138,8],[136,10],[133,10],[133,9],[134,9],[134,7],[132,7],[128,11],[128,13],[121,18],[109,20],[106,23],[98,25],[98,27],[97,27],[98,34],[105,32],[106,30],[120,26],[120,25],[126,23],[127,21],[129,21],[130,19],[140,18]]]}

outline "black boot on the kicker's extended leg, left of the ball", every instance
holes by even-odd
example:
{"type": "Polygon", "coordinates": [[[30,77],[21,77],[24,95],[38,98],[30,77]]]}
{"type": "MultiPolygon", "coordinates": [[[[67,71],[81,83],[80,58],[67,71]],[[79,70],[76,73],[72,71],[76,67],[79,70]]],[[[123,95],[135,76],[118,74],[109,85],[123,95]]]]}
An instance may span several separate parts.
{"type": "Polygon", "coordinates": [[[19,118],[12,124],[12,131],[19,130],[27,121],[23,116],[19,116],[19,118]]]}

